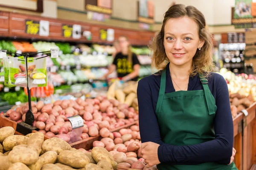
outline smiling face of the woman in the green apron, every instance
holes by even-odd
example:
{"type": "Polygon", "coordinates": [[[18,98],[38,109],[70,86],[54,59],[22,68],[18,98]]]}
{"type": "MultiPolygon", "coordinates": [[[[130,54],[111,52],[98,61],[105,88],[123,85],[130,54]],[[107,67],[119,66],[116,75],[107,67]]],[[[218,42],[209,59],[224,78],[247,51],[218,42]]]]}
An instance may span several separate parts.
{"type": "Polygon", "coordinates": [[[192,59],[204,41],[199,40],[198,25],[189,17],[171,18],[164,28],[166,56],[177,66],[192,65],[192,59]]]}

